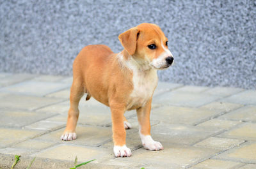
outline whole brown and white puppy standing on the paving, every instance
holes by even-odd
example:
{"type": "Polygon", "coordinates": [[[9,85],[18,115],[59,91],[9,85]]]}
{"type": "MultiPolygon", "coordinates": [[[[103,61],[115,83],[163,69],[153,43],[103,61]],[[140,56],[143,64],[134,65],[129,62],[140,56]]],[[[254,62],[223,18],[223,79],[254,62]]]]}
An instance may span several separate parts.
{"type": "Polygon", "coordinates": [[[118,38],[124,47],[122,52],[114,54],[105,45],[89,45],[74,60],[67,128],[61,139],[76,139],[78,103],[87,93],[86,100],[93,96],[111,109],[116,157],[131,156],[125,145],[125,128],[131,128],[124,117],[126,110],[137,111],[145,149],[161,150],[163,145],[150,136],[150,110],[157,70],[164,70],[173,62],[168,39],[159,26],[147,23],[132,27],[118,38]]]}

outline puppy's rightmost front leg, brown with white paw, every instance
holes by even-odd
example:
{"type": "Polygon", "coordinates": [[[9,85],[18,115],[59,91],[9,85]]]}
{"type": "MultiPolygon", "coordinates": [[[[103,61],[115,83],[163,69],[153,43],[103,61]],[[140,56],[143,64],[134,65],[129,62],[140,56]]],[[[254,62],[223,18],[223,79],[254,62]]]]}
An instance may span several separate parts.
{"type": "Polygon", "coordinates": [[[140,124],[140,138],[145,149],[150,151],[159,151],[163,149],[160,142],[155,142],[150,135],[150,110],[152,98],[147,101],[144,107],[137,108],[137,117],[140,124]]]}

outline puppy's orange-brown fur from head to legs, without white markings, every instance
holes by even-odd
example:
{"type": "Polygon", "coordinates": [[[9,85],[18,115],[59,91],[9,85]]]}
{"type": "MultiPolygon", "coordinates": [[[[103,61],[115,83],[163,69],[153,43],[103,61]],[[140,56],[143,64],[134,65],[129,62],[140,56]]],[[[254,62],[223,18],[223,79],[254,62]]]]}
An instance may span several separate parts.
{"type": "MultiPolygon", "coordinates": [[[[126,110],[137,110],[141,134],[150,135],[150,110],[154,90],[148,91],[152,92],[148,98],[141,98],[136,103],[132,103],[134,72],[124,63],[128,62],[131,57],[136,57],[136,61],[141,63],[141,68],[145,67],[145,70],[141,69],[143,73],[151,71],[152,66],[147,65],[145,61],[153,61],[164,53],[166,49],[162,48],[161,44],[163,41],[165,43],[167,38],[154,24],[141,24],[133,27],[120,34],[118,38],[124,46],[120,54],[114,54],[106,45],[89,45],[84,47],[74,60],[70,109],[65,134],[75,133],[79,117],[79,100],[84,93],[87,93],[86,100],[93,96],[100,103],[110,107],[115,145],[125,145],[124,112],[126,110]],[[157,45],[156,50],[147,47],[151,43],[157,45]],[[122,61],[118,55],[122,55],[122,61]]],[[[155,89],[156,86],[153,88],[155,89]]]]}

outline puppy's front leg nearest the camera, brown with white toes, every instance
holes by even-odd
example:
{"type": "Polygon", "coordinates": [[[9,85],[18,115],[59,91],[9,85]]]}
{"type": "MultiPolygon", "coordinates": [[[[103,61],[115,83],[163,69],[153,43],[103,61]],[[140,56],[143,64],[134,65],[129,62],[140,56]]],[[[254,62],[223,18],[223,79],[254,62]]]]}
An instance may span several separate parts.
{"type": "Polygon", "coordinates": [[[125,145],[126,132],[124,128],[125,106],[113,103],[110,105],[112,117],[112,131],[114,142],[114,153],[116,157],[131,156],[131,149],[125,145]]]}

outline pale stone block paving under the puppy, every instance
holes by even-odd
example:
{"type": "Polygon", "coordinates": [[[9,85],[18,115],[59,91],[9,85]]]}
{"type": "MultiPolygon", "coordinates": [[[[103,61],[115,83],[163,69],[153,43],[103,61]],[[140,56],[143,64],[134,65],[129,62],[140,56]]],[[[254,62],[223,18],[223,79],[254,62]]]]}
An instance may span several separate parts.
{"type": "Polygon", "coordinates": [[[131,158],[115,158],[109,108],[81,99],[77,140],[63,142],[72,77],[0,73],[0,168],[256,168],[256,91],[160,82],[152,136],[163,151],[141,147],[134,111],[125,116],[131,158]]]}

